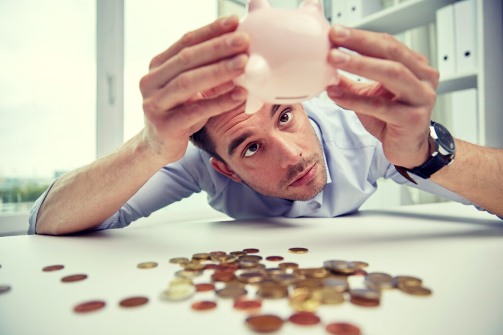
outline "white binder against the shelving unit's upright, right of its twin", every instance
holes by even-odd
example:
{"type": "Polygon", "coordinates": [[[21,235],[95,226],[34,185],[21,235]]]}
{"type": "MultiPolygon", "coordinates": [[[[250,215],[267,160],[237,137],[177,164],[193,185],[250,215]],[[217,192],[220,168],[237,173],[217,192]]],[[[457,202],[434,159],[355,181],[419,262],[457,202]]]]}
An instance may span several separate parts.
{"type": "MultiPolygon", "coordinates": [[[[458,73],[477,70],[477,7],[475,0],[454,3],[456,68],[458,73]]],[[[501,38],[501,36],[499,36],[501,38]]]]}

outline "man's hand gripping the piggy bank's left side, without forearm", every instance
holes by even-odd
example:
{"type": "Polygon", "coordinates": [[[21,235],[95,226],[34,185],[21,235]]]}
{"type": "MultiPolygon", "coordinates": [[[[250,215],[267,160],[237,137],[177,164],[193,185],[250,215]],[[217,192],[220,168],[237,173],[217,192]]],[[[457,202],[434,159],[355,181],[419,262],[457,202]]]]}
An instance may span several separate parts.
{"type": "Polygon", "coordinates": [[[243,72],[249,38],[237,25],[234,15],[185,34],[141,78],[144,139],[163,165],[182,158],[209,118],[244,102],[246,90],[232,79],[243,72]]]}

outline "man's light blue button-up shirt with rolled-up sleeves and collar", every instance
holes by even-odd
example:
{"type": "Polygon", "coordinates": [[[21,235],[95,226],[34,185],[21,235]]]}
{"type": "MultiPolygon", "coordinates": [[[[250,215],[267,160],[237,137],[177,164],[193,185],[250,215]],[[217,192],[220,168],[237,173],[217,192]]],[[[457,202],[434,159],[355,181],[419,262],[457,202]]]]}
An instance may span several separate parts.
{"type": "MultiPolygon", "coordinates": [[[[376,181],[382,177],[472,204],[431,180],[414,176],[418,183],[414,185],[405,179],[388,162],[381,143],[365,130],[354,112],[319,98],[305,101],[303,105],[321,142],[327,166],[327,184],[314,198],[291,201],[262,195],[215,171],[209,162],[211,156],[189,145],[181,160],[154,174],[97,230],[126,227],[139,217],[200,191],[208,194],[208,203],[213,208],[233,218],[333,217],[358,210],[374,193],[376,181]]],[[[38,210],[51,186],[31,210],[28,234],[35,234],[38,210]]]]}

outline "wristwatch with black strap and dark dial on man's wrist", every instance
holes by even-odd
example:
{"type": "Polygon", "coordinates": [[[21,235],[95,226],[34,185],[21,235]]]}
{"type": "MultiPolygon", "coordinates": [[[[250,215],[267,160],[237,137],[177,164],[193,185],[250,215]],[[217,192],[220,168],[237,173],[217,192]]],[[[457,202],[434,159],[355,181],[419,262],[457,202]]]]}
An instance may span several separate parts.
{"type": "Polygon", "coordinates": [[[431,148],[434,148],[434,151],[423,165],[412,169],[395,165],[396,170],[402,176],[417,184],[415,180],[410,178],[407,171],[423,179],[428,179],[432,174],[454,161],[454,153],[456,152],[454,138],[444,126],[433,121],[430,122],[430,145],[431,148]]]}

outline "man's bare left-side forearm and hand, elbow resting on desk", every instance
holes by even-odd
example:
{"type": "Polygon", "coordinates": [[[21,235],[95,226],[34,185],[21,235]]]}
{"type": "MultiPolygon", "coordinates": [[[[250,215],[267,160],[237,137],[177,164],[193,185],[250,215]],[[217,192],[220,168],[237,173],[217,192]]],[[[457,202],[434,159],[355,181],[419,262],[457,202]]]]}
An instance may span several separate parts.
{"type": "Polygon", "coordinates": [[[145,128],[115,152],[61,176],[47,193],[37,234],[97,228],[164,165],[181,159],[189,136],[246,97],[232,79],[243,72],[248,36],[237,16],[189,32],[154,57],[140,80],[145,128]]]}

